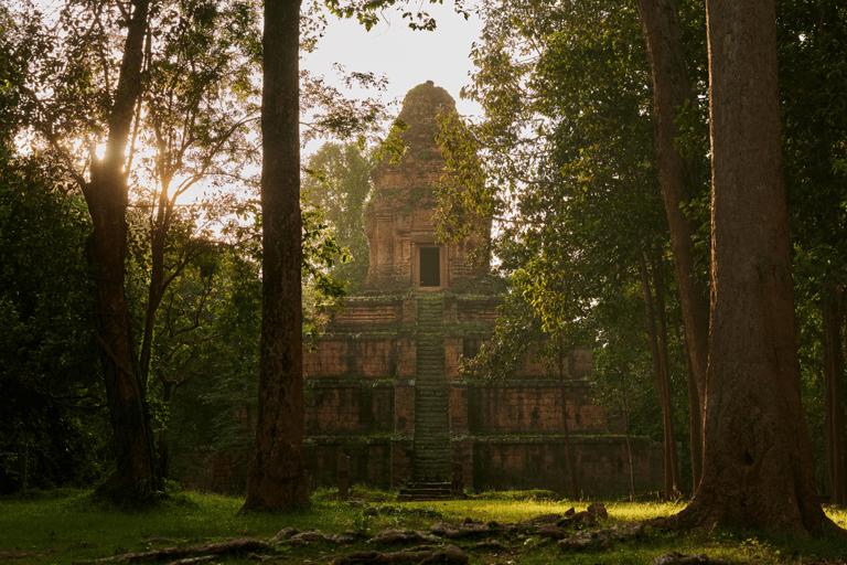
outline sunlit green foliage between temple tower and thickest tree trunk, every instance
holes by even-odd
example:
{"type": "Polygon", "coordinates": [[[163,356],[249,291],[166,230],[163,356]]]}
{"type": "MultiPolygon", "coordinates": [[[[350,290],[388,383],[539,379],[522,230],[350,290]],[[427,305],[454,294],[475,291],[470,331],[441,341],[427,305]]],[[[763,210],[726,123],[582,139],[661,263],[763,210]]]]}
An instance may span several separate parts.
{"type": "MultiPolygon", "coordinates": [[[[686,24],[696,28],[701,14],[686,10],[686,24]]],[[[634,2],[522,1],[480,11],[478,71],[463,94],[483,106],[485,119],[442,122],[448,170],[438,213],[448,238],[479,230],[467,222],[471,214],[493,220],[491,248],[511,292],[494,339],[463,371],[508,374],[533,350],[555,373],[560,347],[594,347],[598,398],[614,411],[632,403],[634,430],[658,438],[637,264],[666,255],[668,228],[637,10],[634,2]]],[[[687,116],[695,147],[700,117],[687,116]]],[[[671,262],[662,263],[671,295],[671,262]]],[[[683,344],[673,331],[678,301],[668,306],[672,381],[684,383],[683,344]]],[[[686,387],[672,388],[674,403],[685,406],[686,387]]]]}

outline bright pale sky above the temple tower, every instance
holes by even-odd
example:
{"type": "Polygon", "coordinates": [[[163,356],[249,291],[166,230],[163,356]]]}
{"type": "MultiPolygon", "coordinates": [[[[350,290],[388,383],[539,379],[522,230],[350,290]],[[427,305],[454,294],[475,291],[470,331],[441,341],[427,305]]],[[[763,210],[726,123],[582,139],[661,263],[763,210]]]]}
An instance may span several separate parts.
{"type": "MultiPolygon", "coordinates": [[[[409,10],[417,8],[417,2],[407,4],[409,10]]],[[[469,20],[457,14],[450,0],[443,4],[421,4],[421,8],[438,22],[435,31],[410,30],[408,20],[396,10],[387,11],[383,21],[371,31],[365,31],[356,20],[328,17],[324,38],[313,53],[304,56],[301,66],[328,79],[336,76],[333,63],[347,71],[385,75],[389,81],[388,92],[383,93],[386,102],[403,102],[411,88],[432,81],[455,98],[459,114],[480,114],[479,105],[459,98],[459,90],[470,83],[473,63],[469,55],[472,43],[480,35],[481,22],[473,14],[469,20]]],[[[399,106],[396,113],[399,113],[399,106]]],[[[320,143],[311,143],[304,153],[313,152],[318,147],[320,143]]]]}

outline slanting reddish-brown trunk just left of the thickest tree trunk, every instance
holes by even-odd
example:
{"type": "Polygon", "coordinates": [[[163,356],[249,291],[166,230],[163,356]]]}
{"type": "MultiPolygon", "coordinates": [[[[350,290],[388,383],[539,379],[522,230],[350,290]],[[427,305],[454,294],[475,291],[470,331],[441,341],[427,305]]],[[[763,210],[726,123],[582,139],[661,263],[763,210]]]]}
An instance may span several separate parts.
{"type": "MultiPolygon", "coordinates": [[[[674,254],[677,288],[685,327],[685,347],[691,364],[696,387],[688,387],[688,404],[698,406],[704,414],[706,402],[706,369],[709,353],[709,301],[706,292],[695,280],[694,239],[697,231],[694,221],[680,210],[697,195],[699,180],[690,159],[684,159],[674,149],[678,130],[675,124],[676,108],[686,100],[695,103],[686,75],[685,51],[683,50],[679,17],[675,0],[637,0],[641,25],[647,45],[647,60],[653,78],[653,119],[656,125],[656,160],[665,200],[667,223],[671,228],[671,249],[674,254]]],[[[691,411],[690,429],[701,429],[694,423],[691,411]]],[[[695,469],[694,451],[703,440],[691,441],[691,463],[695,469]]],[[[696,457],[700,459],[700,454],[696,457]]],[[[699,470],[699,469],[698,469],[699,470]]],[[[695,475],[698,475],[695,471],[695,475]]],[[[694,484],[697,489],[697,482],[694,484]]]]}

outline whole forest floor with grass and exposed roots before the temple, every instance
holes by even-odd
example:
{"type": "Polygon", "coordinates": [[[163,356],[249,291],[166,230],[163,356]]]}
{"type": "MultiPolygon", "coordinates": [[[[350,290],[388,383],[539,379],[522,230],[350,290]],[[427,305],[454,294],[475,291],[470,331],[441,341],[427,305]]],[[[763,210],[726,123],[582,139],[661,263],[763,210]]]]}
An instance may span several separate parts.
{"type": "MultiPolygon", "coordinates": [[[[126,510],[96,499],[90,491],[7,497],[0,499],[0,562],[529,565],[566,561],[588,565],[651,564],[664,555],[664,563],[685,563],[678,555],[667,555],[676,552],[706,554],[725,563],[847,563],[847,540],[841,537],[813,540],[731,530],[680,533],[622,525],[672,514],[684,502],[601,501],[608,518],[598,515],[593,524],[577,524],[565,518],[569,509],[585,511],[597,501],[571,502],[545,491],[398,503],[392,493],[356,487],[346,502],[339,501],[336,492],[318,491],[309,509],[246,515],[238,514],[243,501],[181,492],[152,508],[126,510]],[[288,530],[280,532],[283,529],[288,530]],[[386,530],[395,532],[382,543],[374,541],[386,530]],[[601,543],[603,532],[609,534],[605,543],[601,543]],[[566,548],[568,542],[562,540],[576,539],[573,534],[589,540],[589,547],[566,548]]],[[[847,510],[826,510],[847,527],[847,510]]],[[[688,562],[708,563],[703,557],[688,562]]]]}

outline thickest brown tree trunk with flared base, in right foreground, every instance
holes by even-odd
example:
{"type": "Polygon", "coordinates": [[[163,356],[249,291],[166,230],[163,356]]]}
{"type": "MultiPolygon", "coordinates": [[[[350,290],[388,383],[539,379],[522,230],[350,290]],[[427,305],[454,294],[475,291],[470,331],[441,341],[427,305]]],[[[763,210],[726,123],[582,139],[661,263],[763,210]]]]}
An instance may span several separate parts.
{"type": "Polygon", "coordinates": [[[821,535],[780,147],[773,0],[707,0],[711,324],[700,487],[682,527],[821,535]]]}

